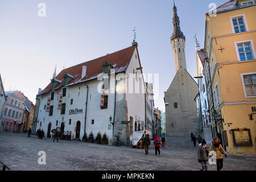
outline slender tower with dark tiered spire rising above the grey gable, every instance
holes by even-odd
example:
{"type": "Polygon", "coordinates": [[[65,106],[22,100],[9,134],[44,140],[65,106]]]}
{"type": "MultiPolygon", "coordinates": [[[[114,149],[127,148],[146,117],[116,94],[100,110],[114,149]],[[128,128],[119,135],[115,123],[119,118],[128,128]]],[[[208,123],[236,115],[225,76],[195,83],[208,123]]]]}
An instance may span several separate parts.
{"type": "Polygon", "coordinates": [[[174,25],[174,32],[171,36],[172,49],[174,51],[175,60],[175,72],[179,69],[187,69],[186,59],[185,59],[185,36],[180,30],[180,19],[177,15],[177,7],[174,2],[174,18],[172,18],[172,24],[174,25]]]}

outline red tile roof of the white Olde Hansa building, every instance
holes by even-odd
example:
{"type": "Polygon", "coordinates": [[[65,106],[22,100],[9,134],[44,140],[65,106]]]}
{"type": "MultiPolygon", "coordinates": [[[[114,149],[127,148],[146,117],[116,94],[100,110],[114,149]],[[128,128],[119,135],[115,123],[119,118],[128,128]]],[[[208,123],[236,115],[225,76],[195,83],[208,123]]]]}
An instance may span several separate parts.
{"type": "MultiPolygon", "coordinates": [[[[117,51],[114,53],[110,53],[109,55],[99,57],[94,60],[86,61],[81,64],[77,64],[73,67],[69,67],[66,69],[63,69],[57,76],[56,79],[60,80],[61,82],[55,86],[52,90],[56,90],[63,86],[64,83],[64,78],[63,76],[65,73],[68,73],[69,75],[74,76],[70,82],[66,86],[74,85],[74,84],[79,84],[84,81],[92,80],[94,78],[97,78],[98,75],[100,75],[103,72],[103,63],[105,61],[108,61],[113,67],[115,68],[115,73],[121,73],[125,72],[130,60],[131,56],[133,55],[133,52],[135,50],[135,46],[131,46],[125,49],[122,49],[121,51],[117,51]],[[82,66],[86,66],[86,76],[84,78],[81,78],[82,75],[82,66]]],[[[38,95],[48,93],[51,91],[52,88],[52,83],[46,86],[42,92],[40,92],[38,95]]]]}

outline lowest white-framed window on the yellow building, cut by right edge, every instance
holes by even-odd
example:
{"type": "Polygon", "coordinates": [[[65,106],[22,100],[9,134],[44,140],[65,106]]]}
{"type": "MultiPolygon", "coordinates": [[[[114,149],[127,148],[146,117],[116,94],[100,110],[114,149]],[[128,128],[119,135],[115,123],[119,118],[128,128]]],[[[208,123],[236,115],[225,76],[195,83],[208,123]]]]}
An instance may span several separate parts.
{"type": "Polygon", "coordinates": [[[250,75],[242,74],[242,82],[246,96],[256,96],[256,73],[250,75]]]}

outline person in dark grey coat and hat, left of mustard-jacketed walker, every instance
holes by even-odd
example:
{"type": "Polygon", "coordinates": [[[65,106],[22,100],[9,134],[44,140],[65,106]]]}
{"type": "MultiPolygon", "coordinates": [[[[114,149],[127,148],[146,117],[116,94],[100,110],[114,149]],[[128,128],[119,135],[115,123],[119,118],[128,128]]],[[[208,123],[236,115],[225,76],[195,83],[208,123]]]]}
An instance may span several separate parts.
{"type": "Polygon", "coordinates": [[[208,155],[209,151],[207,150],[206,142],[203,139],[197,152],[198,162],[201,163],[202,166],[201,171],[208,171],[208,155]]]}

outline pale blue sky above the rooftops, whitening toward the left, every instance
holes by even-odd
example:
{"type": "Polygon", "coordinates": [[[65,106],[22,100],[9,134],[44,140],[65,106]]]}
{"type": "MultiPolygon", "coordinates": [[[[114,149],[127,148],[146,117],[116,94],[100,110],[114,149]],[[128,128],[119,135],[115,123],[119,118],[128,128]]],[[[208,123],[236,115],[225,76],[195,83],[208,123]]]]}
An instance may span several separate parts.
{"type": "MultiPolygon", "coordinates": [[[[187,71],[196,76],[195,34],[204,47],[205,13],[228,0],[175,2],[186,37],[187,71]]],[[[5,91],[20,90],[35,104],[38,89],[63,68],[138,42],[143,73],[159,74],[155,107],[175,76],[172,0],[0,0],[0,73],[5,91]],[[42,6],[43,5],[45,6],[42,6]],[[42,11],[46,10],[46,11],[42,11]]],[[[197,81],[197,80],[196,80],[197,81]]]]}

